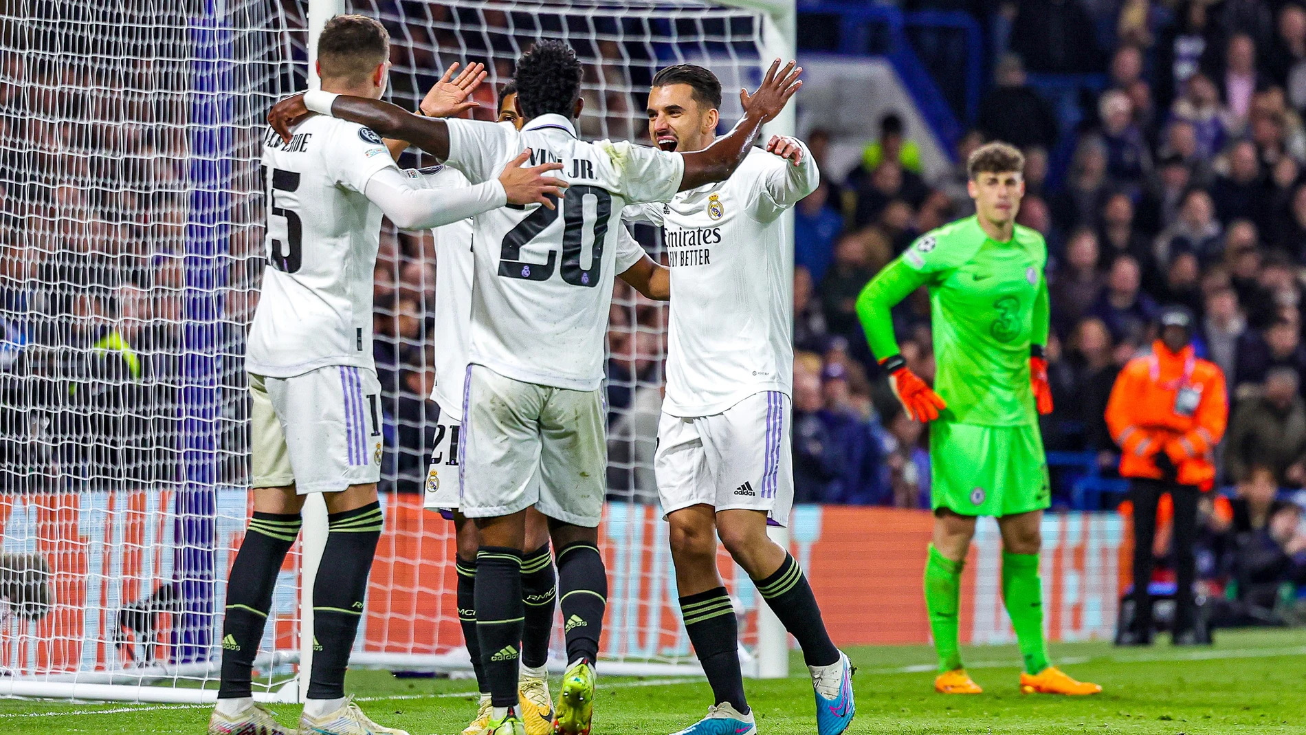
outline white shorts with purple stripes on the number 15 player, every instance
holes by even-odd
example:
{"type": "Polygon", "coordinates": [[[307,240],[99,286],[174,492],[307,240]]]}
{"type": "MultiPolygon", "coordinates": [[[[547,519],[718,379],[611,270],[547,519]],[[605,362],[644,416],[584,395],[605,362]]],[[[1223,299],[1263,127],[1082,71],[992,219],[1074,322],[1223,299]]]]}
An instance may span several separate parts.
{"type": "Polygon", "coordinates": [[[249,375],[253,487],[341,492],[381,479],[376,371],[328,366],[294,377],[249,375]]]}

